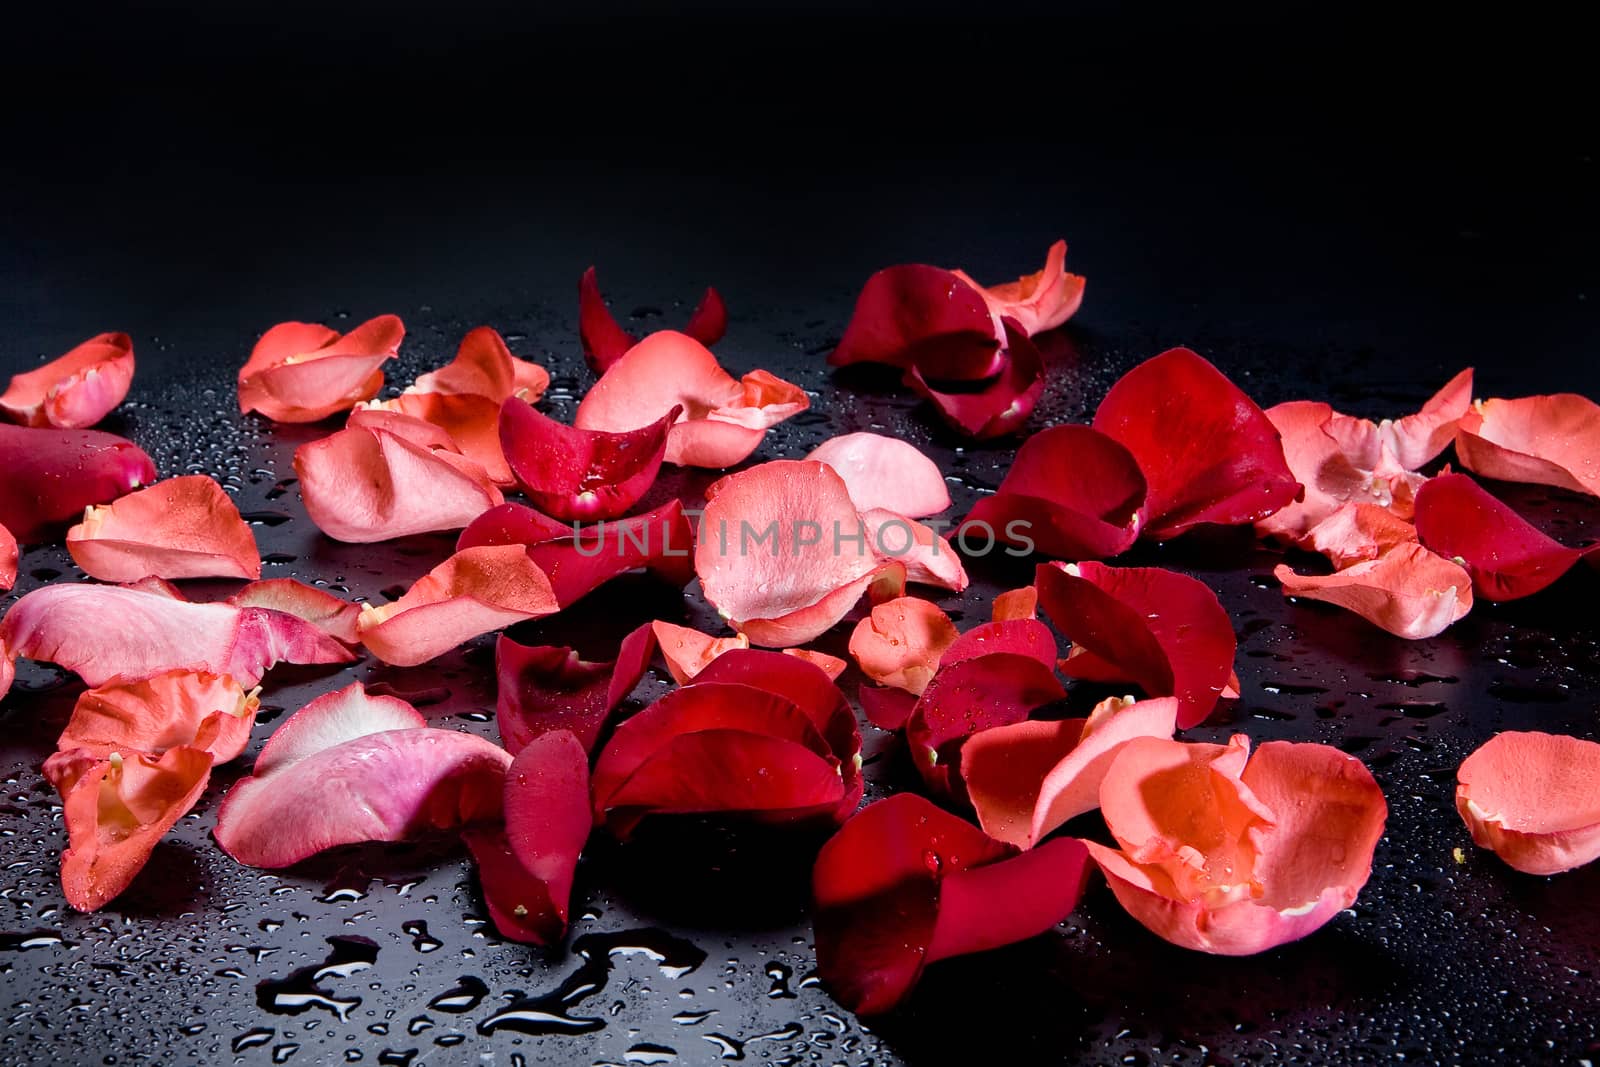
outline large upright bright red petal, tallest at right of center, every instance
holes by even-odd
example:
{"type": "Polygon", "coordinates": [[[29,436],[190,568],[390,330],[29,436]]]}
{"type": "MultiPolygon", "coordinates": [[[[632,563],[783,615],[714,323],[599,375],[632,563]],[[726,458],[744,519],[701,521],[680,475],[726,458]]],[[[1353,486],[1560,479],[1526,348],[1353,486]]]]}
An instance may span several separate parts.
{"type": "Polygon", "coordinates": [[[1222,371],[1171,349],[1110,387],[1094,429],[1120,442],[1149,483],[1147,537],[1200,523],[1266,518],[1301,493],[1266,413],[1222,371]]]}

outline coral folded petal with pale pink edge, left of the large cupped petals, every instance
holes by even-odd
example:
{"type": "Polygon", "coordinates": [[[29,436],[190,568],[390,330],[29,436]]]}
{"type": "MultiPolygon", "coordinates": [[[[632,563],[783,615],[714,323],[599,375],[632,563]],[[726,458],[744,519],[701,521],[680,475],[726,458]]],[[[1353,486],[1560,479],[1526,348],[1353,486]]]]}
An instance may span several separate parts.
{"type": "Polygon", "coordinates": [[[1171,737],[1178,701],[1107,697],[1088,718],[1027,720],[984,729],[962,745],[962,784],[978,824],[997,841],[1034,848],[1069,819],[1099,808],[1112,758],[1133,737],[1171,737]]]}

